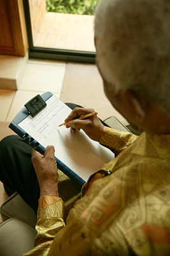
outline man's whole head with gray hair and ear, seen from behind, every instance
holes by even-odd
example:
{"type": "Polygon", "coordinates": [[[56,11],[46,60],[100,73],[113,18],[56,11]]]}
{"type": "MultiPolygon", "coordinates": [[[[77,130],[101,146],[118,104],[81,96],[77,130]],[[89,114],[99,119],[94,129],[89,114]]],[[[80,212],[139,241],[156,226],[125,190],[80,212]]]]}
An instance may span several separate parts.
{"type": "Polygon", "coordinates": [[[166,0],[101,0],[96,8],[97,66],[106,95],[129,122],[152,133],[170,132],[169,17],[166,0]]]}

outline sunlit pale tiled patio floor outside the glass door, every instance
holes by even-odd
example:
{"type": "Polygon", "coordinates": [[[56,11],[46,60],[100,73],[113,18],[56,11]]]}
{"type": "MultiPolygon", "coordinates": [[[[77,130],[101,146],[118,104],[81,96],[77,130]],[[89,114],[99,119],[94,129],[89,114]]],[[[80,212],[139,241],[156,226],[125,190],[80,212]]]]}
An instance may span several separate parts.
{"type": "Polygon", "coordinates": [[[34,46],[95,52],[94,16],[47,12],[34,46]]]}

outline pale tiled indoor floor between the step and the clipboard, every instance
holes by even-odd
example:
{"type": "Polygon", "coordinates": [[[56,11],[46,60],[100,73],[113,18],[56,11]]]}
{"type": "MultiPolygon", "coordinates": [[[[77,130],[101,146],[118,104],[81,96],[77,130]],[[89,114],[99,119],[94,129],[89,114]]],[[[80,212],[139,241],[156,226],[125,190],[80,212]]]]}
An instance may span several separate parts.
{"type": "Polygon", "coordinates": [[[11,122],[24,104],[37,94],[50,91],[60,97],[66,63],[29,60],[19,90],[0,90],[0,121],[11,122]]]}

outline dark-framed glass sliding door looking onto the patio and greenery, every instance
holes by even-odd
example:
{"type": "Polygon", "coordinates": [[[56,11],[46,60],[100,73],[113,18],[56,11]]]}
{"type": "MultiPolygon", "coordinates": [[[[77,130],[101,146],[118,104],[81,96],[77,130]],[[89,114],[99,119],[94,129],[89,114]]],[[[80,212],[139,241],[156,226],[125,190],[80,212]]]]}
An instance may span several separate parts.
{"type": "Polygon", "coordinates": [[[94,10],[98,1],[24,0],[30,55],[94,63],[94,10]]]}

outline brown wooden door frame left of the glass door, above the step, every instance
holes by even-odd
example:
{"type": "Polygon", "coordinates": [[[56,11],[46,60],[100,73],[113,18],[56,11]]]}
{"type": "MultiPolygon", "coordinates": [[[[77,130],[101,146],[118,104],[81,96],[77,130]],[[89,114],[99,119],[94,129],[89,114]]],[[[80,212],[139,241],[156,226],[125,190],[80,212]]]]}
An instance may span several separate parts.
{"type": "Polygon", "coordinates": [[[1,0],[0,8],[0,54],[25,56],[28,41],[22,0],[1,0]]]}

